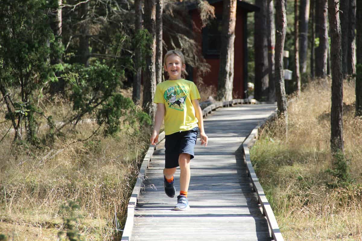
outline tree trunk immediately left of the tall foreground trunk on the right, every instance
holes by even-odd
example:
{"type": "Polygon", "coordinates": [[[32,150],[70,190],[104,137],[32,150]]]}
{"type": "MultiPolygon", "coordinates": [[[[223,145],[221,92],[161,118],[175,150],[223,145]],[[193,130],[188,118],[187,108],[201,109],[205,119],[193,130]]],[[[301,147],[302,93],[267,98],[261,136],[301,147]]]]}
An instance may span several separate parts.
{"type": "Polygon", "coordinates": [[[319,46],[316,49],[316,77],[325,78],[327,75],[327,57],[328,57],[328,29],[327,29],[327,0],[319,0],[318,2],[318,29],[319,46]]]}

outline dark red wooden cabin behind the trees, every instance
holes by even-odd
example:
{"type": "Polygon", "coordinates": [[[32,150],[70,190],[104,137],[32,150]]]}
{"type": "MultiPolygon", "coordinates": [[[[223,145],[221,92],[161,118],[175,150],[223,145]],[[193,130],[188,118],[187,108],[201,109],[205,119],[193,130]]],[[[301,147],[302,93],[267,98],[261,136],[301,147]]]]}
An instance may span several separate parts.
{"type": "MultiPolygon", "coordinates": [[[[201,28],[202,23],[196,7],[190,7],[190,15],[198,29],[194,27],[195,40],[202,46],[202,55],[211,66],[211,72],[203,78],[206,85],[218,86],[219,64],[220,64],[220,46],[221,46],[221,28],[222,28],[222,0],[208,0],[209,4],[215,7],[216,18],[212,22],[201,28]]],[[[248,77],[248,48],[247,48],[247,14],[258,11],[259,8],[253,4],[237,0],[235,42],[234,42],[234,81],[233,98],[245,98],[244,90],[247,90],[248,77]]],[[[191,76],[196,79],[196,73],[192,71],[191,76]]]]}

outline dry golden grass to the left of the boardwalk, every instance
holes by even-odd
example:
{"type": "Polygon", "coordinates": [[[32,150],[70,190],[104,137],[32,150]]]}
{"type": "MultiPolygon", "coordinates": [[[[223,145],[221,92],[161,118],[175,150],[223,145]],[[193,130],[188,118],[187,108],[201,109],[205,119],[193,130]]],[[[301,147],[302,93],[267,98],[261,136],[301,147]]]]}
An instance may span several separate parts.
{"type": "MultiPolygon", "coordinates": [[[[71,109],[60,99],[42,99],[39,105],[55,120],[67,116],[71,109]]],[[[0,124],[1,135],[7,124],[0,124]]],[[[62,206],[72,200],[80,206],[76,226],[85,240],[117,240],[121,232],[115,230],[116,225],[124,223],[150,130],[134,132],[139,126],[124,126],[114,137],[98,135],[76,141],[88,138],[95,128],[92,123],[69,128],[51,146],[37,148],[14,145],[11,134],[3,140],[0,233],[9,240],[56,240],[63,229],[62,218],[67,216],[62,206]]],[[[42,136],[45,129],[39,132],[42,136]]]]}

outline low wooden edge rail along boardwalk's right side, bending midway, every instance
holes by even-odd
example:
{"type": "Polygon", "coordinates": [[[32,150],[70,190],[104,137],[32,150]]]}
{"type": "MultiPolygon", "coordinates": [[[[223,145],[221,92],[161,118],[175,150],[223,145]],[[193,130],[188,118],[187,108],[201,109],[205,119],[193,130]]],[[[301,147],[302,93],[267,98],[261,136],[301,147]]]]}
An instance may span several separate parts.
{"type": "Polygon", "coordinates": [[[264,190],[261,187],[261,184],[259,182],[259,179],[256,176],[256,173],[254,171],[253,165],[250,160],[250,152],[249,149],[253,146],[256,139],[258,139],[259,131],[264,128],[265,124],[268,121],[272,121],[275,118],[277,118],[277,111],[278,108],[275,109],[275,111],[265,120],[261,121],[258,126],[256,126],[250,135],[245,139],[243,142],[244,147],[244,154],[245,154],[245,164],[247,165],[249,176],[252,180],[253,189],[256,192],[258,196],[258,201],[262,207],[263,214],[266,216],[266,219],[268,220],[269,229],[271,232],[271,236],[273,237],[274,241],[283,241],[282,233],[280,232],[277,220],[275,219],[274,212],[270,207],[270,203],[268,199],[265,196],[264,190]]]}

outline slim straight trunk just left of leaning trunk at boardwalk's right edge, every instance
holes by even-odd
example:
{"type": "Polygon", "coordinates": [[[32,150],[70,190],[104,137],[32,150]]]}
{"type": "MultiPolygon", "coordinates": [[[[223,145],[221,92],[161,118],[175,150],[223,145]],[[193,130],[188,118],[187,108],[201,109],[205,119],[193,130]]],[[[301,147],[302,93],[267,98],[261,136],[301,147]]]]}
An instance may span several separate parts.
{"type": "Polygon", "coordinates": [[[275,19],[274,19],[274,1],[268,0],[267,27],[268,30],[268,65],[269,65],[269,102],[275,102],[275,19]]]}

